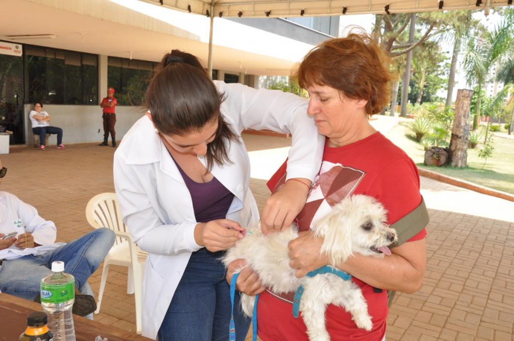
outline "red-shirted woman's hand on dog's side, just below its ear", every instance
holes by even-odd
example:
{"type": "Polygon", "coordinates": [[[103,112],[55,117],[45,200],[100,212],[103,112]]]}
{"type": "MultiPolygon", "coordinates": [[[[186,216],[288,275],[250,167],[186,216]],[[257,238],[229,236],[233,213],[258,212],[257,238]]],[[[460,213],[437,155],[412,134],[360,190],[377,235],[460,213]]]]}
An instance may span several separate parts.
{"type": "Polygon", "coordinates": [[[326,255],[321,255],[323,239],[314,238],[311,231],[300,232],[298,238],[291,240],[289,249],[289,266],[296,270],[298,278],[328,264],[326,255]]]}

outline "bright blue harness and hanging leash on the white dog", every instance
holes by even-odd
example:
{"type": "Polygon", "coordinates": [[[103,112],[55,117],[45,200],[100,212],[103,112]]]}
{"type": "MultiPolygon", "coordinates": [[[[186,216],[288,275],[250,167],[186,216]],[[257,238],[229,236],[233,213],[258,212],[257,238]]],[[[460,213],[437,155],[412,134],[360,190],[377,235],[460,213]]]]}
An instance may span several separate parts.
{"type": "MultiPolygon", "coordinates": [[[[314,271],[311,271],[307,274],[307,277],[314,277],[316,275],[324,275],[324,274],[333,274],[343,280],[351,280],[352,275],[348,275],[344,271],[338,270],[331,266],[324,266],[318,268],[314,271]]],[[[232,280],[230,281],[230,304],[231,304],[231,312],[230,312],[230,327],[229,327],[229,341],[235,341],[235,323],[234,323],[234,297],[235,297],[235,284],[237,281],[237,277],[239,273],[234,274],[232,276],[232,280]]],[[[300,301],[302,300],[302,295],[305,290],[303,286],[298,287],[295,293],[295,298],[293,299],[292,304],[292,315],[295,318],[298,318],[298,314],[300,312],[300,301]]],[[[255,295],[255,303],[253,304],[253,314],[252,314],[252,337],[253,341],[257,340],[257,302],[259,301],[259,294],[255,295]]]]}

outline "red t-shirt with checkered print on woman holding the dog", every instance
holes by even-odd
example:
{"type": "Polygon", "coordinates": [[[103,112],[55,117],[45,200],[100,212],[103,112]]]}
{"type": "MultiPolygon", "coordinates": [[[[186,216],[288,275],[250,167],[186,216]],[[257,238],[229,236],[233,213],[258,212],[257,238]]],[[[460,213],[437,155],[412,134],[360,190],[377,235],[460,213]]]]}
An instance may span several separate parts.
{"type": "MultiPolygon", "coordinates": [[[[284,184],[286,163],[268,181],[272,192],[284,184]]],[[[315,216],[323,216],[331,206],[353,194],[376,198],[388,210],[388,222],[393,224],[421,202],[417,167],[403,150],[379,132],[343,147],[331,148],[325,144],[320,173],[311,187],[304,209],[295,221],[300,231],[308,230],[315,216]]],[[[426,234],[424,229],[409,241],[423,239],[426,234]]],[[[387,291],[377,290],[355,277],[352,280],[361,288],[368,302],[373,329],[369,332],[359,329],[350,313],[330,305],[325,317],[331,339],[382,340],[386,334],[389,312],[387,291]]],[[[259,336],[264,341],[307,341],[301,315],[295,319],[291,313],[291,303],[286,300],[286,295],[281,296],[268,291],[260,295],[257,309],[259,336]]]]}

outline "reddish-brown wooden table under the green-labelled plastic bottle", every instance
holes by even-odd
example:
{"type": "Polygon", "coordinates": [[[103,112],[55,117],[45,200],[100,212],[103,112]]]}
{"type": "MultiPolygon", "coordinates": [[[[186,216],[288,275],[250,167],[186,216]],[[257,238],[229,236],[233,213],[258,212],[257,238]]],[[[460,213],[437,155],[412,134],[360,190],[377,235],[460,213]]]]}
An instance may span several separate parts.
{"type": "MultiPolygon", "coordinates": [[[[27,316],[34,311],[43,311],[43,308],[35,302],[0,293],[0,341],[16,341],[27,327],[27,316]]],[[[150,340],[77,315],[73,315],[73,321],[77,341],[94,341],[98,335],[109,341],[150,340]]]]}

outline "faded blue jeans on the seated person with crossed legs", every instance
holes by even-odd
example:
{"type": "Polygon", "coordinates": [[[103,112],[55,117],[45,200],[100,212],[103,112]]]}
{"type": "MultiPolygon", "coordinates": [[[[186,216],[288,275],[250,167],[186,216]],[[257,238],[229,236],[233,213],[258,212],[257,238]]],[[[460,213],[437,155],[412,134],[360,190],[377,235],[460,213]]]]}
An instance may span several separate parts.
{"type": "Polygon", "coordinates": [[[102,228],[43,255],[4,260],[0,266],[0,290],[32,300],[40,293],[41,279],[52,273],[52,262],[61,260],[64,272],[75,277],[75,287],[81,293],[93,295],[86,281],[97,270],[113,243],[114,232],[102,228]]]}

